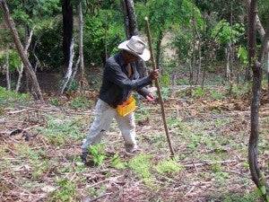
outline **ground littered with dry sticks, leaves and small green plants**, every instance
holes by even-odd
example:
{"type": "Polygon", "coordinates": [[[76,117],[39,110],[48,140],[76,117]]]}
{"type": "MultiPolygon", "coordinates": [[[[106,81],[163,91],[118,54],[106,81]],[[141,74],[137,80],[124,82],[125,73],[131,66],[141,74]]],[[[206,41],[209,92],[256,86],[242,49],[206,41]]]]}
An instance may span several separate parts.
{"type": "MultiPolygon", "coordinates": [[[[1,101],[1,201],[261,201],[250,179],[249,89],[163,87],[161,106],[135,95],[139,154],[126,154],[117,124],[80,159],[97,92],[1,101]]],[[[259,163],[269,179],[269,107],[260,108],[259,163]]]]}

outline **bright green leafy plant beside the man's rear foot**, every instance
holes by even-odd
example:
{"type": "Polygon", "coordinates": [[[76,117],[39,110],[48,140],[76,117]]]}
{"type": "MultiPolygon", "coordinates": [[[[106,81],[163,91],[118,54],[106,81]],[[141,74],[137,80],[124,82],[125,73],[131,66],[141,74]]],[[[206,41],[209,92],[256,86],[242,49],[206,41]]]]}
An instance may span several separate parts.
{"type": "Polygon", "coordinates": [[[100,164],[102,164],[107,158],[106,152],[104,150],[104,144],[89,145],[88,152],[94,166],[100,166],[100,164]]]}

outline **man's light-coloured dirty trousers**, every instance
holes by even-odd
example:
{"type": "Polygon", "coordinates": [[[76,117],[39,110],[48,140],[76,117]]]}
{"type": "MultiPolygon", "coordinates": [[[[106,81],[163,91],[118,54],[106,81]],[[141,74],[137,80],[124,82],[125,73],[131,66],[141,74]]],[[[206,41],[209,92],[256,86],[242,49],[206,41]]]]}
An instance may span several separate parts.
{"type": "Polygon", "coordinates": [[[99,99],[95,106],[95,119],[86,140],[82,144],[82,152],[87,152],[89,145],[97,145],[100,143],[101,137],[108,131],[114,118],[117,120],[117,125],[125,140],[126,152],[131,153],[137,148],[135,141],[134,112],[126,115],[126,117],[121,117],[117,114],[116,109],[110,107],[107,102],[99,99]]]}

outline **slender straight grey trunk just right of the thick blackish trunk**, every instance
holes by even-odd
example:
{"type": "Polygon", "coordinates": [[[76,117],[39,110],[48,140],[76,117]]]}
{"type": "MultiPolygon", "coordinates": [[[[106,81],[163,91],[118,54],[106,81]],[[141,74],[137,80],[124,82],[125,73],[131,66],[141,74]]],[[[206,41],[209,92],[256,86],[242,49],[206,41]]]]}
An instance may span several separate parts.
{"type": "Polygon", "coordinates": [[[82,13],[82,3],[78,6],[79,10],[79,61],[80,61],[80,86],[83,88],[84,81],[84,58],[83,58],[83,13],[82,13]]]}

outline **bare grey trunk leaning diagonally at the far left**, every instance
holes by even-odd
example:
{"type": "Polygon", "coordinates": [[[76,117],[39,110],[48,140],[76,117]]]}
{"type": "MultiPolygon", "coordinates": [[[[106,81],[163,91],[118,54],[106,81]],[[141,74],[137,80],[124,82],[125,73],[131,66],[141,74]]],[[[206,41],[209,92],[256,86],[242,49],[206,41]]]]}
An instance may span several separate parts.
{"type": "Polygon", "coordinates": [[[33,72],[32,66],[30,65],[30,61],[27,58],[27,56],[23,50],[22,42],[21,42],[19,35],[18,35],[18,32],[15,28],[13,19],[9,13],[7,4],[5,3],[4,0],[1,0],[0,4],[1,4],[1,8],[3,10],[3,13],[4,13],[4,21],[6,22],[6,24],[8,25],[8,27],[11,31],[13,41],[16,45],[16,48],[18,49],[18,52],[19,52],[21,58],[22,58],[23,66],[25,66],[26,71],[27,71],[28,75],[30,76],[30,81],[31,81],[31,84],[33,87],[33,95],[34,95],[35,99],[43,101],[43,96],[42,96],[42,93],[41,93],[40,88],[39,88],[39,82],[38,82],[37,76],[33,72]]]}

